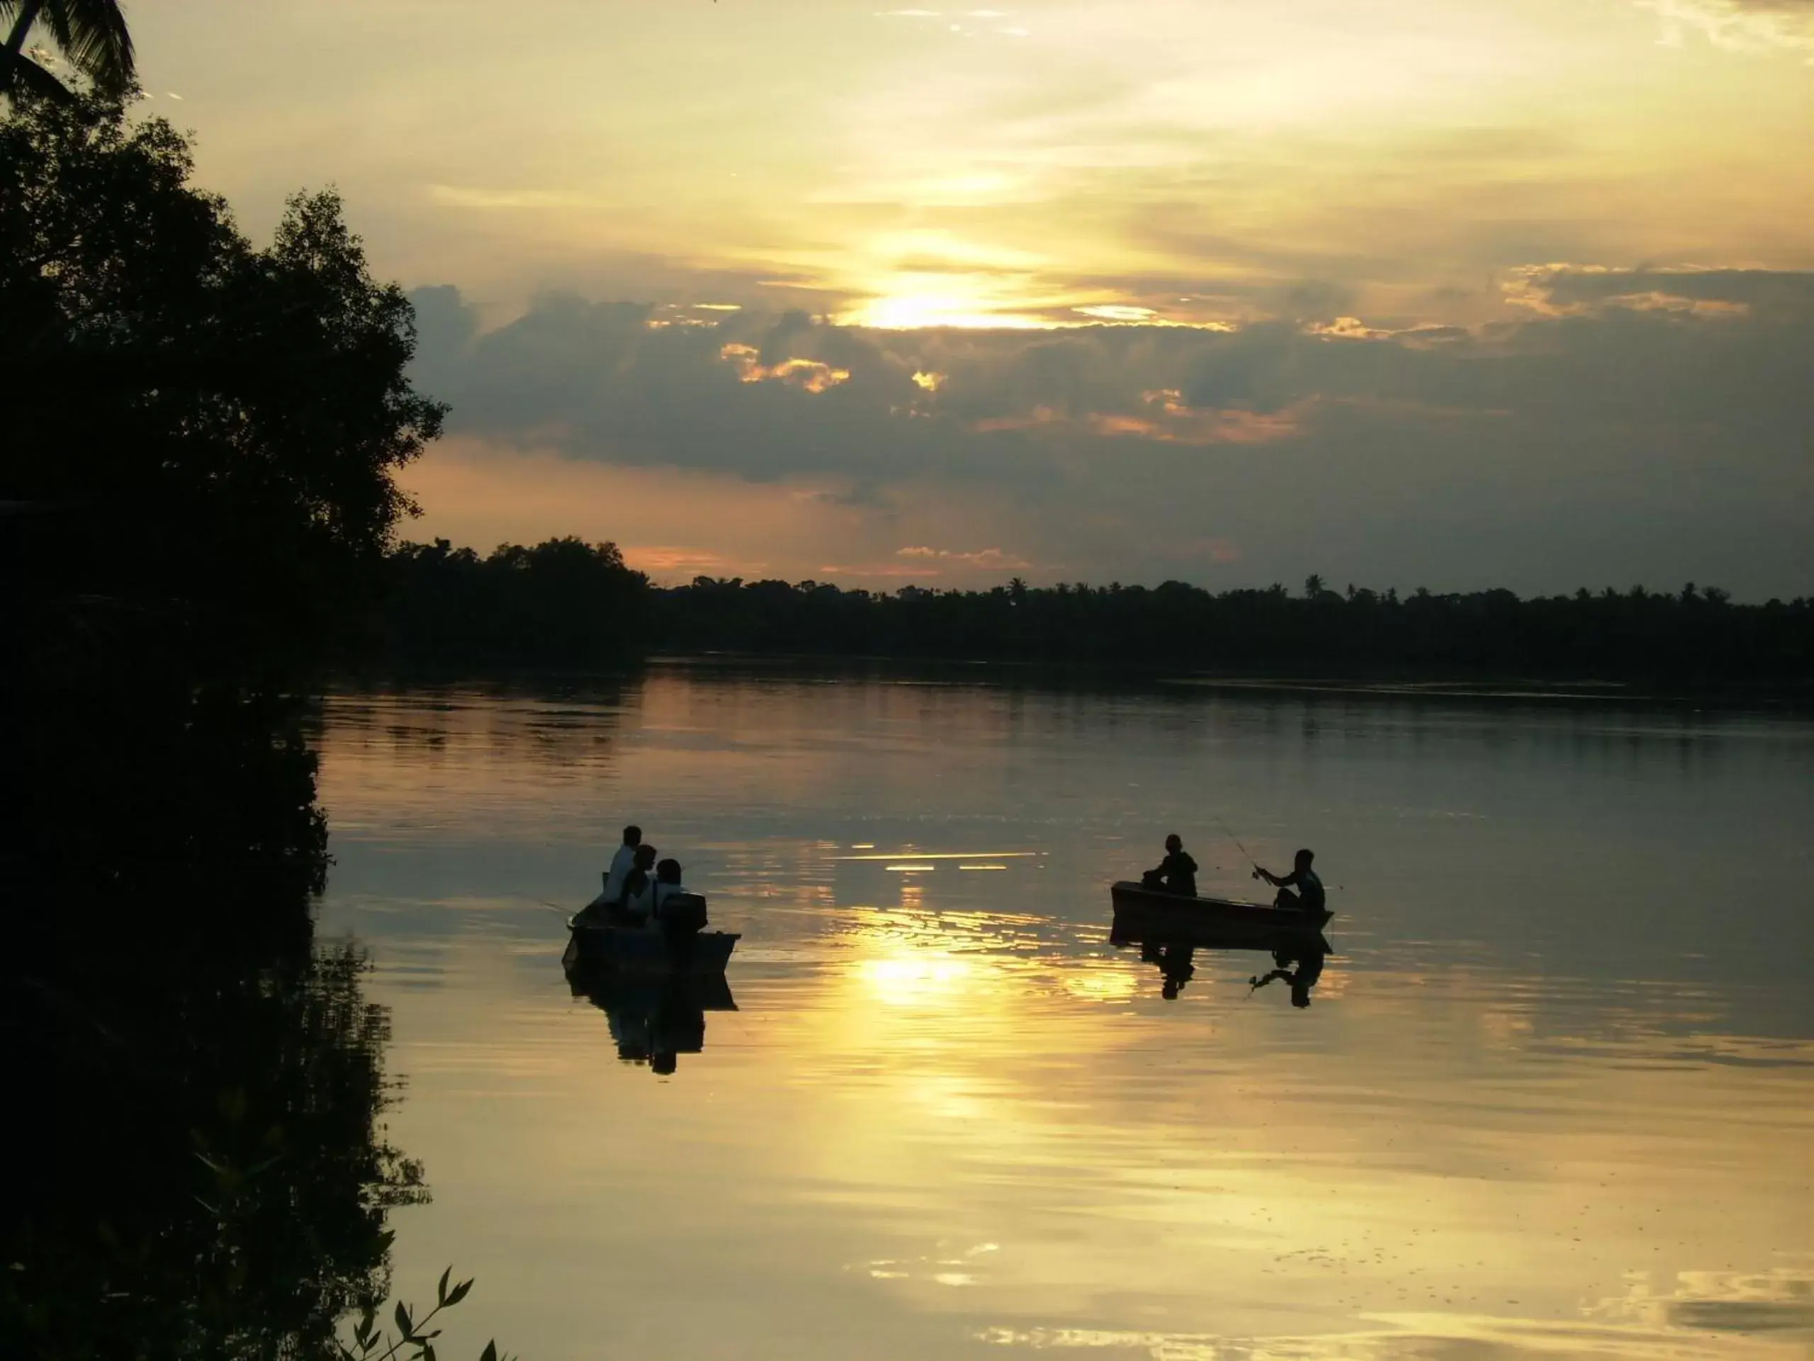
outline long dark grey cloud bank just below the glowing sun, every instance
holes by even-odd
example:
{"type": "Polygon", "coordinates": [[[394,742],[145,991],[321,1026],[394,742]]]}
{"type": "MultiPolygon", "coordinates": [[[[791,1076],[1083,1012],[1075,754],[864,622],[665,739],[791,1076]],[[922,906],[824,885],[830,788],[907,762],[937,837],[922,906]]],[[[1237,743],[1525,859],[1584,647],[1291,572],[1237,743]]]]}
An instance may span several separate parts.
{"type": "Polygon", "coordinates": [[[1814,586],[1814,276],[1547,269],[1526,299],[1478,330],[887,332],[550,294],[481,334],[430,289],[419,377],[499,450],[981,508],[1094,579],[1214,539],[1223,579],[1814,586]]]}

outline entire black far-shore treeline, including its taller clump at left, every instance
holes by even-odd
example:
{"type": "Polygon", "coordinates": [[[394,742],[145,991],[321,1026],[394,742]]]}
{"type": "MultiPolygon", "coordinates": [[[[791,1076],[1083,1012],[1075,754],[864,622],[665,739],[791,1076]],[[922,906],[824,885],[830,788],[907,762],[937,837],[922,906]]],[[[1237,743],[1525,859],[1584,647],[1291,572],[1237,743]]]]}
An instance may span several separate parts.
{"type": "Polygon", "coordinates": [[[1228,675],[1576,677],[1674,684],[1814,679],[1814,601],[1718,588],[1433,593],[1284,586],[845,590],[695,577],[651,586],[615,544],[550,539],[490,557],[444,539],[386,563],[394,659],[586,662],[651,651],[989,659],[1228,675]]]}

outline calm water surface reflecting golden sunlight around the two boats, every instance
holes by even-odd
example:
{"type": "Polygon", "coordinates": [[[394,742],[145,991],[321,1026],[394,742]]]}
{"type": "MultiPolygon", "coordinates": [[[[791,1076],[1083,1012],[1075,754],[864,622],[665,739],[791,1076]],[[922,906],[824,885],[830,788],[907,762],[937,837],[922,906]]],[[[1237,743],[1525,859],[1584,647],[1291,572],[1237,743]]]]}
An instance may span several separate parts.
{"type": "Polygon", "coordinates": [[[673,668],[319,740],[444,1356],[1814,1356],[1807,722],[673,668]],[[1217,818],[1317,849],[1308,1009],[1108,944],[1166,831],[1253,896],[1217,818]],[[702,1042],[561,973],[629,820],[744,933],[702,1042]]]}

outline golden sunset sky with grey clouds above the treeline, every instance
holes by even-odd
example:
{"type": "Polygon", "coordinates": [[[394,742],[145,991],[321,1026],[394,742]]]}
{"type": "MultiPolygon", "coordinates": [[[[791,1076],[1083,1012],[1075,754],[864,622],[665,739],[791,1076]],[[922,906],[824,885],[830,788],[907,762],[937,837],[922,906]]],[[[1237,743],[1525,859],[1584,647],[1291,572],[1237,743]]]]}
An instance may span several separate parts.
{"type": "Polygon", "coordinates": [[[410,537],[658,579],[1814,590],[1814,2],[138,0],[334,183],[410,537]]]}

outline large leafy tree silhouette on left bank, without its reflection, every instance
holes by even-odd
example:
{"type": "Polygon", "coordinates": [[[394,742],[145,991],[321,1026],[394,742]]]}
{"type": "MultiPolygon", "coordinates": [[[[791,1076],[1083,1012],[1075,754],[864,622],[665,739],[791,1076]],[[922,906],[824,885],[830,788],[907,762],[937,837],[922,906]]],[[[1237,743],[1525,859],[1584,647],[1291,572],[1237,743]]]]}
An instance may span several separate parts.
{"type": "Polygon", "coordinates": [[[0,118],[0,497],[36,601],[161,612],[216,668],[307,659],[412,510],[394,472],[441,428],[414,314],[332,192],[268,249],[189,185],[189,143],[116,100],[0,118]]]}

